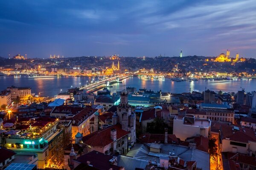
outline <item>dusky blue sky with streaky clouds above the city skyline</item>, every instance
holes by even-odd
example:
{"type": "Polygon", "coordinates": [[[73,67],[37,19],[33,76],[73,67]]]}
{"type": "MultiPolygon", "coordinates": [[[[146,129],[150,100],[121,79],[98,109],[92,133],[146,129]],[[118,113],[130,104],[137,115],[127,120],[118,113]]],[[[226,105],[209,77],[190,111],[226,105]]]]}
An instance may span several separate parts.
{"type": "Polygon", "coordinates": [[[256,58],[255,0],[3,0],[0,56],[256,58]]]}

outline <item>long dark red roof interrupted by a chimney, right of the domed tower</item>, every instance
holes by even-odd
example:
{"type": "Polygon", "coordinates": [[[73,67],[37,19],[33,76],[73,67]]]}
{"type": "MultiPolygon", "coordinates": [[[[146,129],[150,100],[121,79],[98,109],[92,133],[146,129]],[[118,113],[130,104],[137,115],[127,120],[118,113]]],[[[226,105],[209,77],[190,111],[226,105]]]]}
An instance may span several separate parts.
{"type": "MultiPolygon", "coordinates": [[[[139,139],[143,143],[164,143],[165,139],[165,134],[142,134],[139,136],[139,139]]],[[[168,134],[167,142],[169,144],[172,144],[172,142],[176,142],[177,144],[179,143],[179,140],[175,135],[168,134]]]]}

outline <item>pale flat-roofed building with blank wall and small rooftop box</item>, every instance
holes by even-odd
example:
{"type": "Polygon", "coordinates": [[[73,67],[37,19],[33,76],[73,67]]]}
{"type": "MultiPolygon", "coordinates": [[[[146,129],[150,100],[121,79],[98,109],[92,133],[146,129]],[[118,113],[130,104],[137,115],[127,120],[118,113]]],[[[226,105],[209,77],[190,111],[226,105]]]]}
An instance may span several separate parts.
{"type": "Polygon", "coordinates": [[[209,119],[195,119],[194,115],[186,115],[183,118],[175,117],[173,122],[173,134],[185,141],[192,136],[209,136],[211,121],[209,119]]]}

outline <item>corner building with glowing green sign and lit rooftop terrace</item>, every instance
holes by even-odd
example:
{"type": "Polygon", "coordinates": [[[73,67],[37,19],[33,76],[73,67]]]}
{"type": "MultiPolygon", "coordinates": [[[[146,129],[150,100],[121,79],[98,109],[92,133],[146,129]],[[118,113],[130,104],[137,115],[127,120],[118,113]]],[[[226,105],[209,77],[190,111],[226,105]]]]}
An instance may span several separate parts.
{"type": "Polygon", "coordinates": [[[57,125],[58,119],[51,117],[39,117],[20,122],[20,126],[26,127],[26,130],[6,132],[9,136],[2,137],[5,141],[4,145],[16,153],[36,153],[38,168],[45,168],[55,155],[57,141],[63,132],[62,129],[57,128],[57,125]]]}

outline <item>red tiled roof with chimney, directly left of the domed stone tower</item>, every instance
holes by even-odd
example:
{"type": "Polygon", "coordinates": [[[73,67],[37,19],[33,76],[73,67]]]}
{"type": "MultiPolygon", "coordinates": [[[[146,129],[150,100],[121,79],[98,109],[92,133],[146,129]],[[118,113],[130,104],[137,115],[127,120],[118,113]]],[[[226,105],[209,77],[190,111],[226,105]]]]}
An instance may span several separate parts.
{"type": "Polygon", "coordinates": [[[116,129],[116,139],[129,134],[128,131],[122,129],[122,125],[117,124],[84,136],[82,141],[90,146],[105,147],[113,142],[111,139],[111,129],[116,129]]]}

